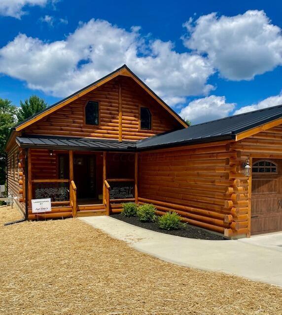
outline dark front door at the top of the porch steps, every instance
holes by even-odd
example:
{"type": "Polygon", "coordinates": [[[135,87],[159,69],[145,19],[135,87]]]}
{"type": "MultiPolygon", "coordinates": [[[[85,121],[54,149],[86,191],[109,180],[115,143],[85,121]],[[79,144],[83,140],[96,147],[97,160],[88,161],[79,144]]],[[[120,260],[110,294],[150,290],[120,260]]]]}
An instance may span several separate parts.
{"type": "Polygon", "coordinates": [[[74,155],[73,179],[77,188],[77,199],[97,198],[95,155],[74,155]]]}

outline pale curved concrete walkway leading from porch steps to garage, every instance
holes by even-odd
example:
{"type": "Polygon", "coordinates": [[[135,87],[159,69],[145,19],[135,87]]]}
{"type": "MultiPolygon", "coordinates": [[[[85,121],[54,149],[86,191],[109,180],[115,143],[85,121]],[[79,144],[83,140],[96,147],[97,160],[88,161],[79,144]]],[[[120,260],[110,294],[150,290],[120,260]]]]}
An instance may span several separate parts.
{"type": "Polygon", "coordinates": [[[169,262],[282,286],[282,233],[209,241],[154,232],[106,216],[79,220],[169,262]]]}

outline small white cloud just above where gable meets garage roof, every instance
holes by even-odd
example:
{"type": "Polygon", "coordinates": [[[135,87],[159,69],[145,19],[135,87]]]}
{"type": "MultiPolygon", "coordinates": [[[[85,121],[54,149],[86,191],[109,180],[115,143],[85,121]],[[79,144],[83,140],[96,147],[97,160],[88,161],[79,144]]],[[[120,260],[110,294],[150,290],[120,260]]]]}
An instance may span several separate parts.
{"type": "Polygon", "coordinates": [[[200,124],[228,116],[235,103],[226,103],[225,96],[210,95],[192,100],[180,111],[183,119],[189,119],[193,124],[200,124]]]}

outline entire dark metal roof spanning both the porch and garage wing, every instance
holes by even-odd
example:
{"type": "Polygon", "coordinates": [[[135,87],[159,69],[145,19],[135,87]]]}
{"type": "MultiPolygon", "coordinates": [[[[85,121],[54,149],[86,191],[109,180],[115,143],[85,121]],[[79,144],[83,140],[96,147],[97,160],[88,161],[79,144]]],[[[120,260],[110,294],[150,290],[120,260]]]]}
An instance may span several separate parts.
{"type": "Polygon", "coordinates": [[[22,148],[44,148],[91,151],[145,151],[212,141],[235,139],[238,133],[282,118],[282,105],[229,116],[185,129],[158,134],[137,142],[52,136],[21,136],[16,142],[22,148]]]}

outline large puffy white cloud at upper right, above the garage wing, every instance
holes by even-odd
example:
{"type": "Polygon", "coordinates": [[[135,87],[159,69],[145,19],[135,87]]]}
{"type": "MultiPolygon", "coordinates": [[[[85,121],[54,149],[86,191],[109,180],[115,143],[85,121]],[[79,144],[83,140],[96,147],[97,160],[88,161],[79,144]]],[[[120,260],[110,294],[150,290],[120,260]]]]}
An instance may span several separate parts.
{"type": "Polygon", "coordinates": [[[282,65],[282,33],[264,11],[249,10],[232,17],[203,15],[184,25],[184,45],[206,54],[230,80],[250,80],[282,65]]]}

